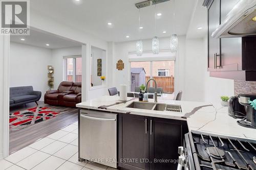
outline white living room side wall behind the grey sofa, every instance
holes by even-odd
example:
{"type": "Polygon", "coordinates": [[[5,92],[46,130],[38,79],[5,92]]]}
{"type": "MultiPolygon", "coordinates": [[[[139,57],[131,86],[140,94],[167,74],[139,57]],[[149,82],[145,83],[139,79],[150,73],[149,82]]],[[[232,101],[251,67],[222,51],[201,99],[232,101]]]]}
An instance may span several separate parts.
{"type": "Polygon", "coordinates": [[[51,65],[51,50],[32,45],[10,43],[10,87],[33,86],[41,91],[41,100],[48,88],[47,65],[51,65]]]}

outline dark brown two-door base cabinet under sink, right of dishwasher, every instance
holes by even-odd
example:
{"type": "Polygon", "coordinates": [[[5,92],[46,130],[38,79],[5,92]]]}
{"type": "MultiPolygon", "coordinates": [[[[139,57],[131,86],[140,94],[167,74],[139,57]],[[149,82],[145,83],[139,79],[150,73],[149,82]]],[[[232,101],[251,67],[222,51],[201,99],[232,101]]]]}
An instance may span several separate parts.
{"type": "Polygon", "coordinates": [[[119,114],[120,169],[177,169],[186,121],[119,114]]]}

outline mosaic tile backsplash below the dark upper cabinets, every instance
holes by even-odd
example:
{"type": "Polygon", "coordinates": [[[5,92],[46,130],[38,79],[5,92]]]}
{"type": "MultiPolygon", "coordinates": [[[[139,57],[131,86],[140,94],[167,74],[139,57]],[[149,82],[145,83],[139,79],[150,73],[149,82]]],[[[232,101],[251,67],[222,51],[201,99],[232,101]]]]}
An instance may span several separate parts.
{"type": "Polygon", "coordinates": [[[234,95],[237,94],[256,94],[256,82],[234,81],[234,95]]]}

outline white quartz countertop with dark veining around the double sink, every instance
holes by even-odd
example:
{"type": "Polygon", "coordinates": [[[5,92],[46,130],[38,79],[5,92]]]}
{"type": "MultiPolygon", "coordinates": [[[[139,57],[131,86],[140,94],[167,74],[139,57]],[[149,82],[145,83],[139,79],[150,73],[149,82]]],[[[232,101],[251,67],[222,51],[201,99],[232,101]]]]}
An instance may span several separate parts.
{"type": "MultiPolygon", "coordinates": [[[[133,98],[127,98],[127,100],[132,99],[133,98]]],[[[130,113],[143,116],[186,120],[188,129],[190,131],[194,130],[211,134],[256,140],[256,129],[245,128],[238,125],[237,120],[239,119],[234,119],[230,117],[228,115],[227,107],[212,105],[209,103],[173,100],[158,100],[158,103],[181,105],[182,113],[144,110],[126,107],[134,101],[138,101],[138,99],[128,101],[126,103],[116,104],[118,102],[121,102],[119,101],[118,96],[102,96],[97,99],[79,103],[76,106],[78,108],[84,109],[94,109],[101,111],[130,113]],[[106,109],[99,109],[98,107],[100,106],[109,107],[107,107],[106,109]]],[[[149,102],[154,103],[154,100],[149,99],[149,102]]]]}

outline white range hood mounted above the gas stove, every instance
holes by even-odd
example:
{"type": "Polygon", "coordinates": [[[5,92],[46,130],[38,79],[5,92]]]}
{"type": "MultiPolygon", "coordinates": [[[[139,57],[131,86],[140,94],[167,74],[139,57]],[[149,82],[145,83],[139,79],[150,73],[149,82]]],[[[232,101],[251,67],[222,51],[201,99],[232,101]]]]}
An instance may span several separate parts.
{"type": "Polygon", "coordinates": [[[211,34],[214,38],[251,35],[256,35],[256,0],[240,0],[211,34]]]}

